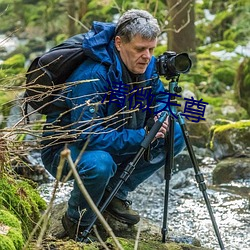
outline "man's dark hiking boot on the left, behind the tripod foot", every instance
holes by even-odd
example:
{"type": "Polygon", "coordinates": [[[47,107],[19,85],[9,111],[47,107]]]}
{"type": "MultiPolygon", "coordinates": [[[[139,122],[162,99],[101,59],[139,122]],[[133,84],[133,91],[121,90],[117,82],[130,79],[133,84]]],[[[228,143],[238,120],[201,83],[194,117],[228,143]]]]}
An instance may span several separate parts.
{"type": "Polygon", "coordinates": [[[70,239],[73,239],[78,242],[91,243],[97,241],[97,238],[90,234],[86,239],[83,237],[83,232],[86,227],[78,225],[71,218],[68,217],[67,213],[62,217],[62,224],[65,230],[65,236],[68,236],[70,239]]]}

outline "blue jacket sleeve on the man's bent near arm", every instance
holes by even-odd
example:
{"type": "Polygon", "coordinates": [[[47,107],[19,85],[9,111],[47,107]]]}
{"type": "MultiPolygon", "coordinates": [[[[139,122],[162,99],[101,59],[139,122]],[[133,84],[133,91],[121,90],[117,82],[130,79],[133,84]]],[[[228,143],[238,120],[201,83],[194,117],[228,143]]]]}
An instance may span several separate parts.
{"type": "Polygon", "coordinates": [[[76,135],[79,147],[88,143],[88,150],[104,150],[115,155],[136,153],[146,132],[144,129],[108,126],[114,123],[115,115],[107,116],[109,104],[102,102],[109,86],[105,75],[103,65],[91,66],[86,61],[68,79],[68,82],[74,82],[66,90],[66,102],[71,109],[71,131],[76,135]],[[77,83],[82,79],[90,81],[77,83]]]}

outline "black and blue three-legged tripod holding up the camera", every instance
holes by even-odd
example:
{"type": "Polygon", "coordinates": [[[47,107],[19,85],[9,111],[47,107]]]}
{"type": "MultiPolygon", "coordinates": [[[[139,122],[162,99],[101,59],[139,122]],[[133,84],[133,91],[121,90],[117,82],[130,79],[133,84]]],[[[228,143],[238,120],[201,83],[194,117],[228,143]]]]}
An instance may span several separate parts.
{"type": "MultiPolygon", "coordinates": [[[[177,78],[177,80],[172,79],[169,83],[169,92],[171,94],[175,94],[175,93],[180,92],[180,91],[181,91],[181,88],[178,87],[178,78],[177,78]]],[[[174,103],[177,103],[177,101],[174,99],[174,95],[171,95],[170,104],[174,104],[174,103]]],[[[162,126],[163,122],[165,121],[165,119],[167,118],[167,116],[169,116],[169,132],[168,132],[168,136],[166,138],[168,151],[166,152],[166,162],[165,162],[165,181],[166,181],[165,184],[166,185],[165,185],[164,215],[163,215],[163,226],[162,226],[162,242],[163,243],[166,242],[166,234],[168,232],[168,230],[167,230],[167,214],[168,214],[169,181],[171,179],[172,168],[173,168],[173,163],[174,163],[174,122],[176,119],[175,115],[177,114],[175,107],[171,107],[171,105],[170,105],[170,109],[171,110],[170,110],[169,114],[167,111],[163,111],[161,113],[160,117],[155,122],[155,124],[153,125],[150,132],[147,134],[145,139],[142,141],[140,150],[135,155],[134,159],[128,163],[128,165],[126,166],[126,168],[124,169],[123,173],[120,176],[119,182],[117,183],[117,185],[115,186],[113,191],[109,194],[108,198],[106,199],[106,201],[102,204],[101,208],[99,209],[100,212],[102,213],[107,208],[107,206],[112,201],[112,199],[114,198],[114,196],[116,195],[116,193],[118,192],[118,190],[120,189],[122,184],[132,174],[132,172],[134,171],[140,158],[143,156],[144,152],[148,149],[151,142],[154,140],[155,135],[157,134],[157,132],[161,128],[161,126],[162,126]]],[[[193,166],[194,166],[196,181],[199,185],[199,189],[202,192],[204,200],[206,202],[206,206],[207,206],[207,209],[208,209],[208,212],[209,212],[209,215],[210,215],[210,218],[211,218],[211,221],[212,221],[220,248],[221,248],[221,250],[224,250],[225,248],[224,248],[223,242],[221,240],[218,226],[216,224],[215,217],[213,215],[213,211],[212,211],[212,208],[211,208],[211,205],[210,205],[210,202],[208,199],[208,195],[206,192],[206,184],[204,182],[203,175],[199,170],[198,163],[197,163],[193,148],[192,148],[191,143],[190,143],[190,139],[189,139],[188,131],[186,129],[185,121],[184,121],[183,117],[180,115],[180,113],[178,113],[177,115],[178,115],[178,121],[181,125],[181,130],[182,130],[185,142],[186,142],[186,146],[187,146],[191,161],[192,161],[193,166]]],[[[97,216],[94,217],[94,219],[90,223],[90,225],[84,230],[84,232],[82,233],[83,239],[87,239],[87,237],[88,237],[89,233],[91,232],[92,227],[94,226],[96,220],[97,220],[97,216]]]]}

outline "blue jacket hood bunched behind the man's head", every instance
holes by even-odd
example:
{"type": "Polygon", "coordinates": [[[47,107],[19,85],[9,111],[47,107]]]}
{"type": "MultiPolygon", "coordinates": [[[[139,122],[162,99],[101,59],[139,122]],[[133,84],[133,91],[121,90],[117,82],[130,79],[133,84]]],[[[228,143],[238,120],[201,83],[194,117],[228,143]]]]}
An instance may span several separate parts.
{"type": "Polygon", "coordinates": [[[83,49],[95,61],[111,65],[114,49],[115,24],[94,21],[85,34],[83,49]]]}

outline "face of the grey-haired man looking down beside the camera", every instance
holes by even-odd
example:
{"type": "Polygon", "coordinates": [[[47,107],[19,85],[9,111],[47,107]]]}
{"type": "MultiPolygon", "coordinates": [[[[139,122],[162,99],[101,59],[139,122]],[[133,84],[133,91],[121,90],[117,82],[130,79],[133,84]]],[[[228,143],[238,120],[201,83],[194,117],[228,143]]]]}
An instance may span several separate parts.
{"type": "Polygon", "coordinates": [[[121,37],[115,37],[115,46],[128,70],[134,74],[143,74],[153,55],[157,39],[146,40],[136,35],[130,42],[124,43],[121,37]]]}

